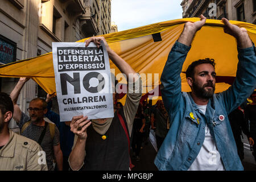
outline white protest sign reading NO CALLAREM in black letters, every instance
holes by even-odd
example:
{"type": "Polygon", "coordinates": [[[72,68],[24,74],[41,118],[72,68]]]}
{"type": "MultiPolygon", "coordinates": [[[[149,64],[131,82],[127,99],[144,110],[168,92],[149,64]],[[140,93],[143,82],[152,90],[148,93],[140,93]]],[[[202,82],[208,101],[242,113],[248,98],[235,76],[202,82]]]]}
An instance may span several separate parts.
{"type": "Polygon", "coordinates": [[[73,116],[112,118],[113,95],[109,56],[105,45],[52,43],[53,67],[60,121],[73,116]]]}

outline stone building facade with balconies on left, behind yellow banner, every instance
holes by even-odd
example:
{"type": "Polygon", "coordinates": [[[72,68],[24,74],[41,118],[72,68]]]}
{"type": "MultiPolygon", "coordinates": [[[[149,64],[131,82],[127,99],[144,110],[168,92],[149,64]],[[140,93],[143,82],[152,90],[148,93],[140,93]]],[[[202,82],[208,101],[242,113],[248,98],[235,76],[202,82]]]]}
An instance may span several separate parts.
{"type": "MultiPolygon", "coordinates": [[[[52,42],[76,42],[108,34],[110,15],[111,0],[1,0],[0,64],[51,52],[52,42]]],[[[10,93],[18,80],[0,77],[0,91],[10,93]]],[[[45,96],[30,80],[18,104],[26,112],[32,98],[45,96]]]]}

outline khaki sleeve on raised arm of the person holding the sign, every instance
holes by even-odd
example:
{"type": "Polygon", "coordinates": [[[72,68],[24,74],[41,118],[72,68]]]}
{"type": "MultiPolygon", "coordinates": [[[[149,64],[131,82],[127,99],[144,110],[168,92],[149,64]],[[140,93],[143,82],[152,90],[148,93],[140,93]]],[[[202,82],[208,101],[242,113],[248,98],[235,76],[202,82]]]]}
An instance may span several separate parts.
{"type": "Polygon", "coordinates": [[[142,86],[141,86],[141,77],[139,76],[139,78],[135,82],[128,82],[128,92],[126,96],[125,105],[123,106],[123,113],[125,114],[125,119],[127,122],[130,136],[131,136],[131,130],[133,129],[134,117],[138,109],[141,96],[142,96],[142,86]]]}

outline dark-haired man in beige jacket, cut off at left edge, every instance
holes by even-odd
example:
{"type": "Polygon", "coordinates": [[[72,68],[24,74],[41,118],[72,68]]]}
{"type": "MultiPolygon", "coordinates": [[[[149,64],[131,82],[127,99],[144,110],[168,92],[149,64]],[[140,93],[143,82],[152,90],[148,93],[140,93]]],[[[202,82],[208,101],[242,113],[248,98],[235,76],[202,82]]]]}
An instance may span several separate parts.
{"type": "Polygon", "coordinates": [[[13,110],[11,98],[0,92],[0,171],[47,171],[39,144],[8,128],[13,110]]]}

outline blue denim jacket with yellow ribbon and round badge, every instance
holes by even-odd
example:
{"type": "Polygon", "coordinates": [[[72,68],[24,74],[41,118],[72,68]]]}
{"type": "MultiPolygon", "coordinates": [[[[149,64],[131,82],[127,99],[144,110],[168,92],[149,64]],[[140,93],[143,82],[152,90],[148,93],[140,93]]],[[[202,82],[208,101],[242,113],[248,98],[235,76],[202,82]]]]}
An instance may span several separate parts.
{"type": "Polygon", "coordinates": [[[171,125],[154,163],[159,170],[187,170],[204,143],[207,125],[225,169],[243,170],[228,114],[242,104],[256,88],[255,46],[238,48],[236,80],[225,92],[213,95],[205,115],[197,109],[190,93],[181,92],[180,73],[190,48],[176,42],[161,76],[163,102],[171,125]],[[190,113],[193,113],[195,119],[191,118],[190,113]],[[224,115],[223,121],[219,119],[220,115],[224,115]]]}

